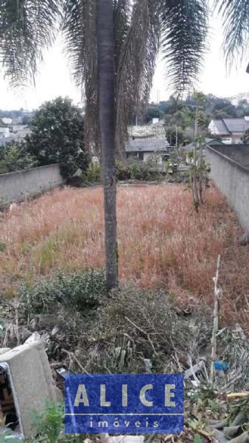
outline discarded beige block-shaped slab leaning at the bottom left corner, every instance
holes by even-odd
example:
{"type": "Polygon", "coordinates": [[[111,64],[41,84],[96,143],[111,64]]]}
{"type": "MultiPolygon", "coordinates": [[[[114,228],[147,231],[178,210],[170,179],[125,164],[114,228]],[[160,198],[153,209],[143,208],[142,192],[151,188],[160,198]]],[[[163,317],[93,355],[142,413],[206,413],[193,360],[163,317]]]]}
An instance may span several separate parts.
{"type": "Polygon", "coordinates": [[[25,437],[31,436],[30,412],[42,410],[46,400],[57,400],[44,345],[41,341],[25,343],[0,354],[1,363],[9,367],[21,431],[25,437]]]}

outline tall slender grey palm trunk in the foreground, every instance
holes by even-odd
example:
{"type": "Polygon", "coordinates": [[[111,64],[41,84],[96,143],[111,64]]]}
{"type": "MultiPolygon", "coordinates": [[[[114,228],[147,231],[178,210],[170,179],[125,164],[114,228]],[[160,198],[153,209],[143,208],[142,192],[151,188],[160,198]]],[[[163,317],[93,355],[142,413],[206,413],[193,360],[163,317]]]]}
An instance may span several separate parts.
{"type": "Polygon", "coordinates": [[[112,0],[96,0],[96,6],[99,113],[105,205],[106,280],[109,291],[118,284],[112,0]]]}

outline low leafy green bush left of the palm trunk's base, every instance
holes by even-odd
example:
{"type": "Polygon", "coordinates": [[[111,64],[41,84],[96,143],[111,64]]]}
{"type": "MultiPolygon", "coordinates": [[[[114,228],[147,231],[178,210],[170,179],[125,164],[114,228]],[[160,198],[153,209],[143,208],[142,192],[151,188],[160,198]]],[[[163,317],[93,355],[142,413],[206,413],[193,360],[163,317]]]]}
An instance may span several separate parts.
{"type": "Polygon", "coordinates": [[[19,312],[24,319],[39,314],[55,314],[61,306],[83,313],[98,306],[105,290],[105,273],[102,270],[71,274],[59,272],[53,280],[42,278],[34,285],[22,286],[19,312]]]}

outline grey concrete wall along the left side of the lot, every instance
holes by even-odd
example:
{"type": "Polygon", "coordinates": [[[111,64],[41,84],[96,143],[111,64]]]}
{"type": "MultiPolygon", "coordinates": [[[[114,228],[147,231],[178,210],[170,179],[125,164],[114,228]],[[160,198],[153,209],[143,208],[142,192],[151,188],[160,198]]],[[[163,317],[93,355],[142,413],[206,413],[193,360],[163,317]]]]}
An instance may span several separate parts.
{"type": "Polygon", "coordinates": [[[0,175],[0,207],[55,188],[63,183],[58,164],[0,175]]]}

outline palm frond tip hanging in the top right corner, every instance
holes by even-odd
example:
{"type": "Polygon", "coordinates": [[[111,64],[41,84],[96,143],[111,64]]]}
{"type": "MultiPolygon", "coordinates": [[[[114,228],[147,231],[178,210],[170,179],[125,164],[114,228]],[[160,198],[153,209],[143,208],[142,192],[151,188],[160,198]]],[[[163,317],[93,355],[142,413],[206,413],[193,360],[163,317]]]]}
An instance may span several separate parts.
{"type": "Polygon", "coordinates": [[[249,0],[215,0],[223,20],[223,50],[230,65],[249,53],[249,0]]]}

